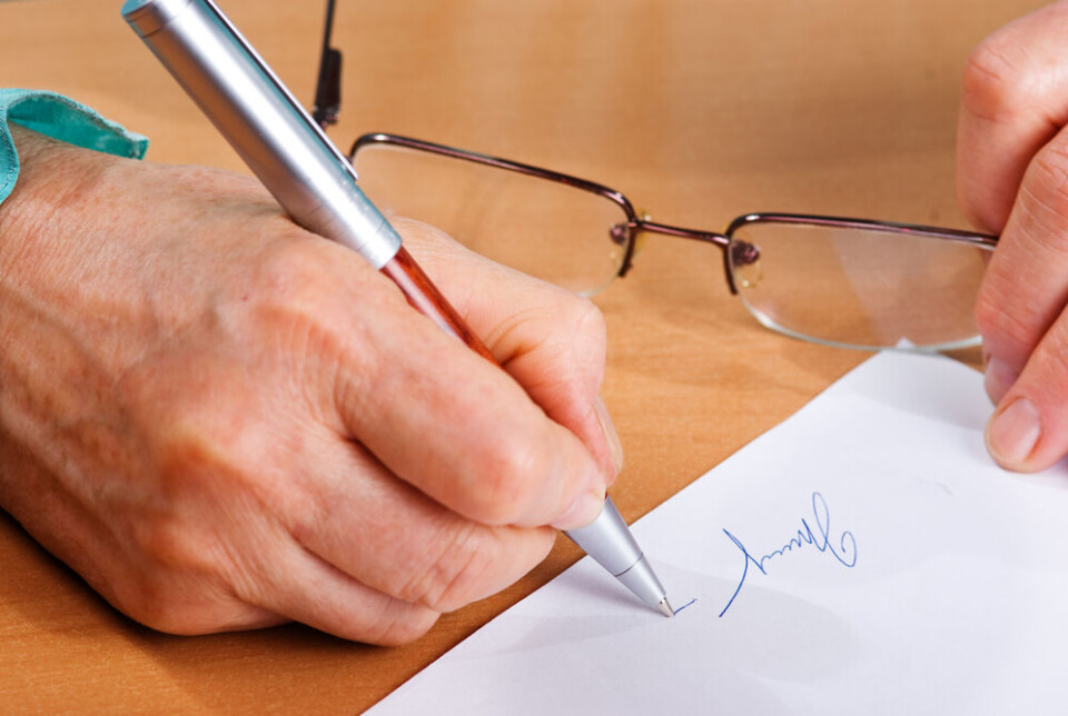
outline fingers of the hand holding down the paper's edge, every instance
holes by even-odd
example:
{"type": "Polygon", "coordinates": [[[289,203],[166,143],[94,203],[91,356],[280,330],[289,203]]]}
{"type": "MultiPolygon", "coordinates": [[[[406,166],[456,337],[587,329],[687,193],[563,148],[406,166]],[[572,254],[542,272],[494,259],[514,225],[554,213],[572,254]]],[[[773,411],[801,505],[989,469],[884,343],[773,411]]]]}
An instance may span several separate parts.
{"type": "Polygon", "coordinates": [[[1040,470],[1068,453],[1068,3],[980,44],[965,72],[957,192],[1000,233],[976,318],[993,458],[1040,470]]]}

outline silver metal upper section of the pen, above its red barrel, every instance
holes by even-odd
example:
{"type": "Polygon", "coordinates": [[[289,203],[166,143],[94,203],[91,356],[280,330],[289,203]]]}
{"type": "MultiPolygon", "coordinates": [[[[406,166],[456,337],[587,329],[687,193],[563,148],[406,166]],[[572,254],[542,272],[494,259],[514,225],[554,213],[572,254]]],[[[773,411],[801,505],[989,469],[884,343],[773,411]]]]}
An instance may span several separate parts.
{"type": "Polygon", "coordinates": [[[122,17],[293,220],[376,269],[400,237],[356,172],[210,0],[127,0],[122,17]]]}

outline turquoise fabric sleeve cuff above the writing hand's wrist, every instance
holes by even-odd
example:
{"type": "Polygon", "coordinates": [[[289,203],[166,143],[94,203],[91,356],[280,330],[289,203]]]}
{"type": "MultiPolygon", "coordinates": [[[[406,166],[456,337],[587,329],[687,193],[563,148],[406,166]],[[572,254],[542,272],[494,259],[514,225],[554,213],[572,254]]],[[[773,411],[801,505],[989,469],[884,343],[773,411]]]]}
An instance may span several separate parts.
{"type": "Polygon", "coordinates": [[[0,89],[0,202],[14,189],[19,155],[9,122],[86,149],[140,159],[148,139],[127,131],[85,105],[43,90],[0,89]]]}

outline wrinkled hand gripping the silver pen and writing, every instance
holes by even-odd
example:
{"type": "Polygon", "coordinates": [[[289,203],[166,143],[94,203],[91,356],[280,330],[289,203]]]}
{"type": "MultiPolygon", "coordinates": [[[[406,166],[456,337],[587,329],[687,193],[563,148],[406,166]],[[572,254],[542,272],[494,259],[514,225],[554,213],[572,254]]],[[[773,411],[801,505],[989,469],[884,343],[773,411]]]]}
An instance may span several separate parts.
{"type": "Polygon", "coordinates": [[[402,222],[506,372],[251,179],[16,137],[0,504],[132,618],[403,643],[595,516],[591,304],[402,222]]]}

